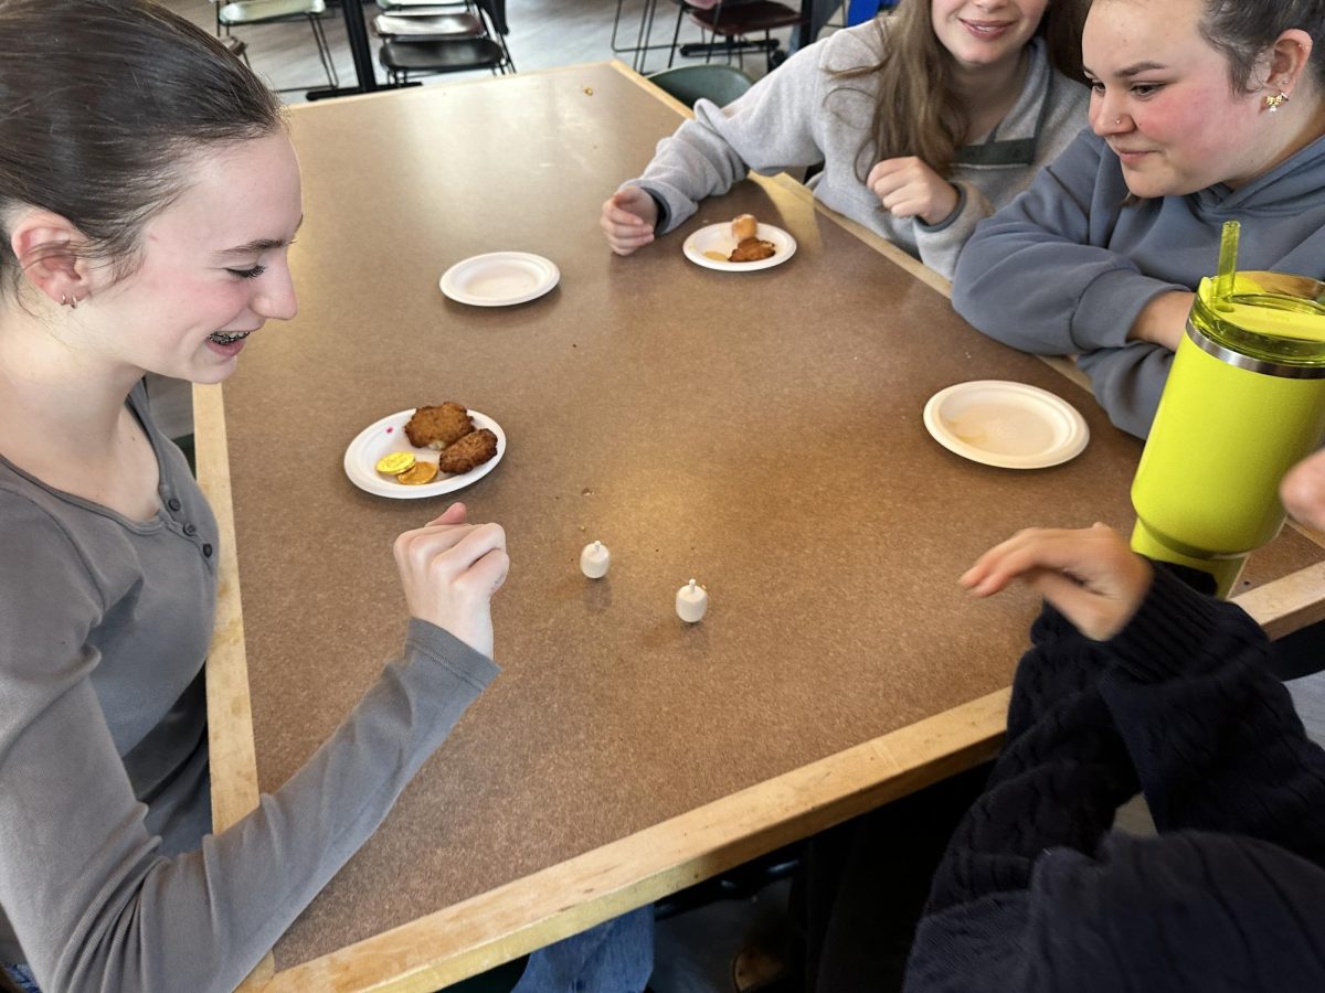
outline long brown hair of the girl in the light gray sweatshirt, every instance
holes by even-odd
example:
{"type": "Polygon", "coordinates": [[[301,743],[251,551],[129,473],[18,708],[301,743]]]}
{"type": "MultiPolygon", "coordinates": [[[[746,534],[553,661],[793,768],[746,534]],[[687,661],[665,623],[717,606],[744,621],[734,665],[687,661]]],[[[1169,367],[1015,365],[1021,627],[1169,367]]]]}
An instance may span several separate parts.
{"type": "MultiPolygon", "coordinates": [[[[953,56],[934,34],[930,0],[902,0],[874,21],[882,57],[873,65],[829,70],[839,79],[877,74],[874,119],[860,146],[861,181],[872,163],[916,155],[947,176],[965,143],[970,117],[953,89],[953,56]],[[884,21],[886,20],[886,28],[884,21]]],[[[1081,78],[1083,0],[1049,0],[1036,33],[1049,64],[1069,79],[1081,78]]]]}

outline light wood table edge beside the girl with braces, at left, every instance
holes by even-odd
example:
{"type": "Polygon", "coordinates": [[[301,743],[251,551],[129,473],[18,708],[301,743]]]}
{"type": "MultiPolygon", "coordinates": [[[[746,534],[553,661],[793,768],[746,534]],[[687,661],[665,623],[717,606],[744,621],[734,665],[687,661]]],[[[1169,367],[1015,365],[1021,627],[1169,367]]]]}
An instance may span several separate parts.
{"type": "MultiPolygon", "coordinates": [[[[216,515],[220,539],[216,620],[207,650],[207,732],[212,830],[223,831],[257,806],[258,789],[240,567],[235,548],[229,440],[225,433],[225,401],[219,385],[193,387],[193,451],[197,483],[216,515]]],[[[240,989],[257,989],[274,972],[276,961],[268,952],[240,989]]]]}

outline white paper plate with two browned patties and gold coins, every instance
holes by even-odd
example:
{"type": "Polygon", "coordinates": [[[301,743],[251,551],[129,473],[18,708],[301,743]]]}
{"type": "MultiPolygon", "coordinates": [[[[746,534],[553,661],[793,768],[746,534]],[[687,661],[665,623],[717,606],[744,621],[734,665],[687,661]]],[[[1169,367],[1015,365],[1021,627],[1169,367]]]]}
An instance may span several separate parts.
{"type": "Polygon", "coordinates": [[[370,424],[344,450],[344,474],[366,493],[409,500],[464,489],[505,454],[497,421],[448,400],[370,424]]]}

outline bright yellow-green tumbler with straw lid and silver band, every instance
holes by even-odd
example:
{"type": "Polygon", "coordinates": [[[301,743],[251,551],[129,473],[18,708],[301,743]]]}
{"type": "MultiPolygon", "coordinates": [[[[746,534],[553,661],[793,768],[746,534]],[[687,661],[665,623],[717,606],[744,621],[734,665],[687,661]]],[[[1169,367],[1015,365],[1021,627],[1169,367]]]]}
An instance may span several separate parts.
{"type": "Polygon", "coordinates": [[[1202,279],[1132,483],[1132,548],[1191,565],[1228,596],[1284,524],[1279,482],[1325,436],[1325,283],[1202,279]]]}

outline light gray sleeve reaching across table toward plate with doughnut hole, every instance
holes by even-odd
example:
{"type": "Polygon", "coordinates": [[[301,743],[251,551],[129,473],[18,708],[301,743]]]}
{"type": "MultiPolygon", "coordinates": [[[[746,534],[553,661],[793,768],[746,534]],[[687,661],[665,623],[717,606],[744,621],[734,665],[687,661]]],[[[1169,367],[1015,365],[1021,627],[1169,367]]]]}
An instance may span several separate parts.
{"type": "Polygon", "coordinates": [[[659,142],[644,175],[623,184],[661,201],[659,233],[677,228],[701,200],[726,193],[751,169],[774,175],[823,160],[815,128],[824,113],[827,50],[825,40],[796,52],[725,107],[698,101],[694,119],[659,142]]]}

